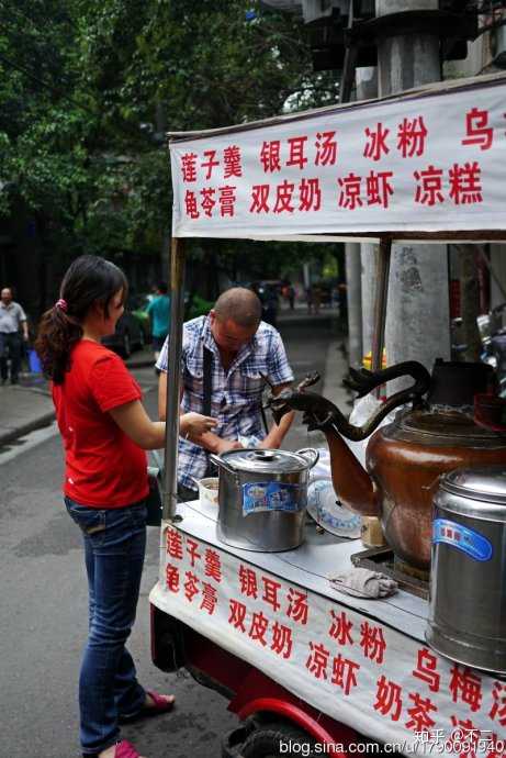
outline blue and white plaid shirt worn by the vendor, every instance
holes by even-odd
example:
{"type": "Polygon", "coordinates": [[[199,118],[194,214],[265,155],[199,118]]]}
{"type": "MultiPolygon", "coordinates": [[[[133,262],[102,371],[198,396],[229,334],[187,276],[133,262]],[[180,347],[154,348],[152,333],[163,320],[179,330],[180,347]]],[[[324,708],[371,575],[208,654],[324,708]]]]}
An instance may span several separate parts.
{"type": "MultiPolygon", "coordinates": [[[[260,372],[269,377],[274,386],[293,381],[293,372],[279,332],[261,321],[252,339],[243,345],[226,372],[211,332],[209,316],[187,322],[183,326],[181,361],[183,413],[202,413],[204,345],[213,353],[211,415],[217,421],[213,432],[224,439],[237,439],[239,435],[265,437],[261,420],[265,383],[260,372]]],[[[157,363],[157,368],[161,371],[167,371],[167,358],[168,338],[157,363]]],[[[191,477],[205,477],[207,455],[203,447],[179,438],[180,484],[195,489],[191,477]]]]}

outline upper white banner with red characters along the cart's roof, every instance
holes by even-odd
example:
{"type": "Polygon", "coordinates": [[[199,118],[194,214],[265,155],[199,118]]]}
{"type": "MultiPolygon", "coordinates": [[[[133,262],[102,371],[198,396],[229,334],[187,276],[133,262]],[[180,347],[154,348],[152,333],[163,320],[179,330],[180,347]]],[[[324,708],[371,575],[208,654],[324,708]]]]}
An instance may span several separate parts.
{"type": "Polygon", "coordinates": [[[504,230],[504,81],[172,142],[173,236],[504,230]]]}

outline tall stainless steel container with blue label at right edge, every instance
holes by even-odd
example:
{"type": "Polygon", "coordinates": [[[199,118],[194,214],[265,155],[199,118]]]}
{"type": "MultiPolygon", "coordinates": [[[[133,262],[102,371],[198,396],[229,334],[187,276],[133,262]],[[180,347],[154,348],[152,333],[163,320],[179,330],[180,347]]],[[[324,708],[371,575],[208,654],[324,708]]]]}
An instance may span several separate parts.
{"type": "Polygon", "coordinates": [[[506,673],[506,468],[457,469],[435,499],[428,644],[506,673]]]}

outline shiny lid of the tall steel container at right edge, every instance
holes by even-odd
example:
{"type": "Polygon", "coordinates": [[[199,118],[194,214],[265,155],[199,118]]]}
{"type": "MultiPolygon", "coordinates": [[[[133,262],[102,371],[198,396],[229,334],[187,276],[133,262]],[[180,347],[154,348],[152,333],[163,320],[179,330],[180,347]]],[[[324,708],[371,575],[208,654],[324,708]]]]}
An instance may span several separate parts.
{"type": "Polygon", "coordinates": [[[459,501],[460,513],[506,521],[506,466],[456,469],[441,477],[440,489],[466,499],[459,501]]]}

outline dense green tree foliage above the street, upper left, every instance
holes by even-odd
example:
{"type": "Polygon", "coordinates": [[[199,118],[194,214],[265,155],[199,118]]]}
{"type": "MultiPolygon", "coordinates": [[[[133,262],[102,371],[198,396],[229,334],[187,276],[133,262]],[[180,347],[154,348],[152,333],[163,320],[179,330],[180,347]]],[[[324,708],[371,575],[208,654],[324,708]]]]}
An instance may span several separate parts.
{"type": "MultiPolygon", "coordinates": [[[[0,214],[21,200],[56,248],[157,253],[170,226],[168,129],[335,100],[295,16],[256,2],[1,0],[0,214]]],[[[272,246],[246,245],[274,274],[272,246]]],[[[233,270],[235,247],[207,249],[233,270]]],[[[299,255],[277,253],[286,266],[299,255]]]]}

